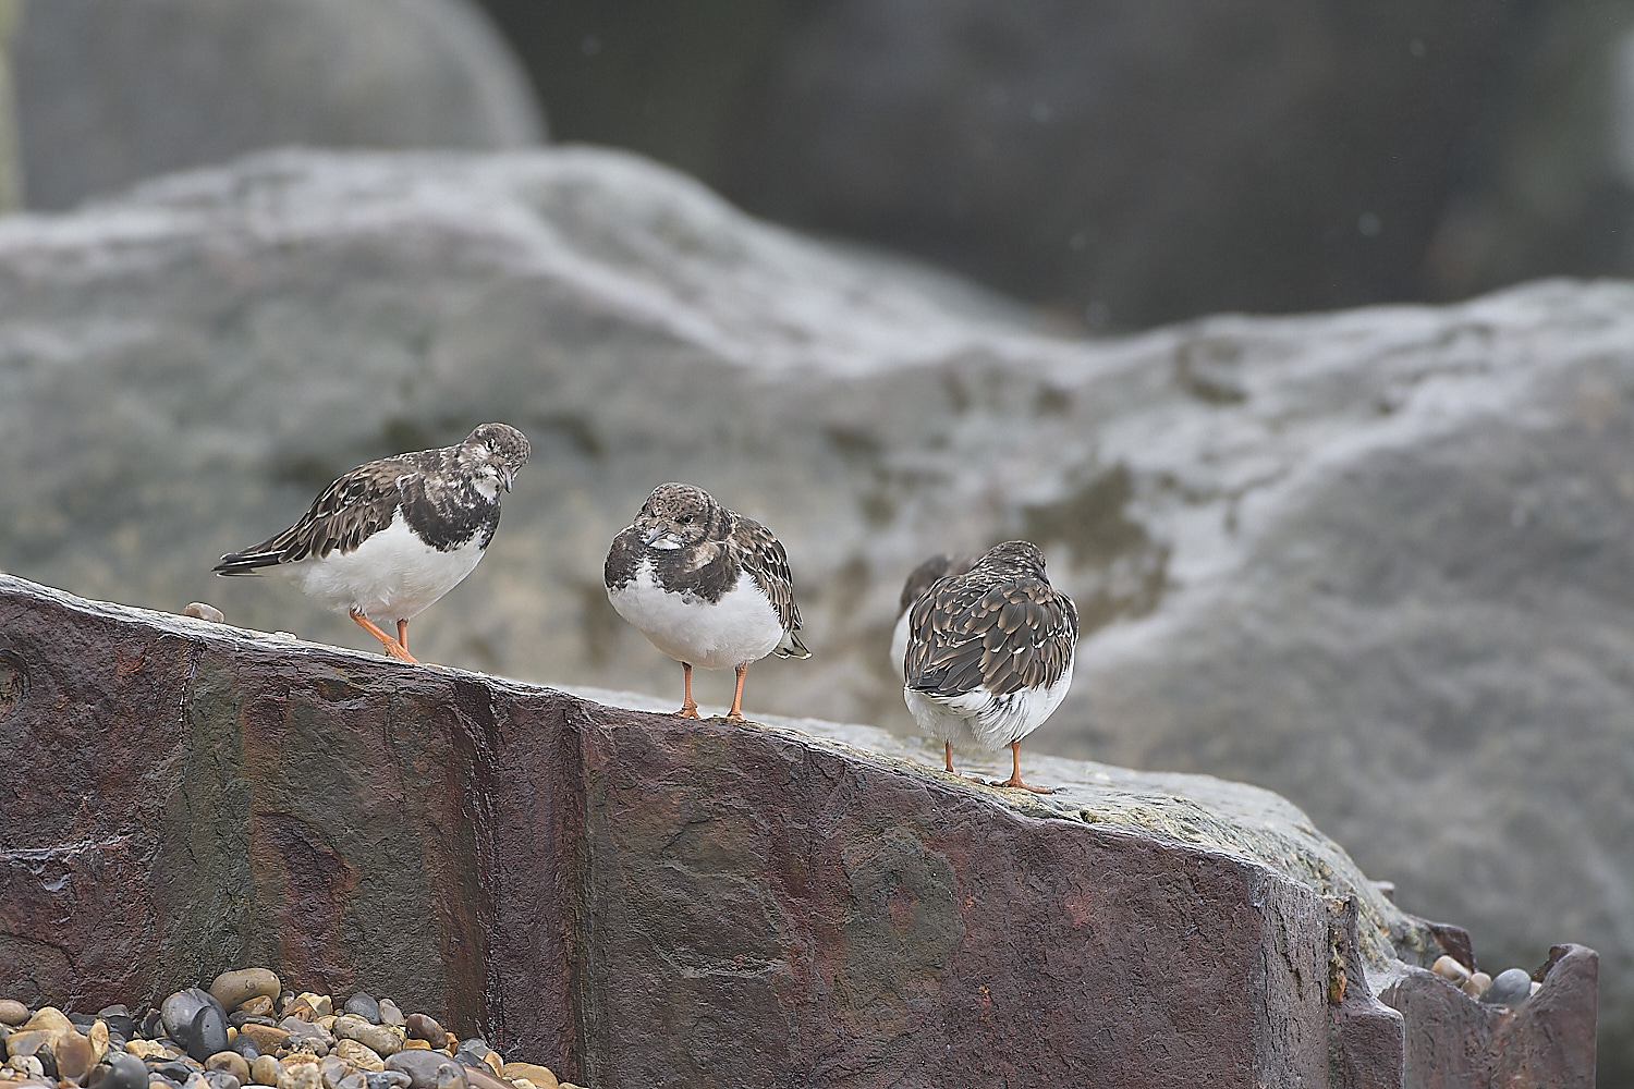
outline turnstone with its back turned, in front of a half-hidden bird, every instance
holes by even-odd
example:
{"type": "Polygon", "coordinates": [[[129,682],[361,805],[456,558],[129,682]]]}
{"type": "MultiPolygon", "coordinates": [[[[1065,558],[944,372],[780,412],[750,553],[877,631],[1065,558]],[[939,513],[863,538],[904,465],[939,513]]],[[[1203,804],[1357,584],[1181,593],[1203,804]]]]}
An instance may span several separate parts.
{"type": "Polygon", "coordinates": [[[1021,782],[1021,738],[1072,687],[1078,612],[1044,576],[1028,540],[993,545],[964,575],[938,580],[909,611],[902,697],[920,728],[953,743],[1010,746],[1010,779],[995,787],[1052,793],[1021,782]]]}

